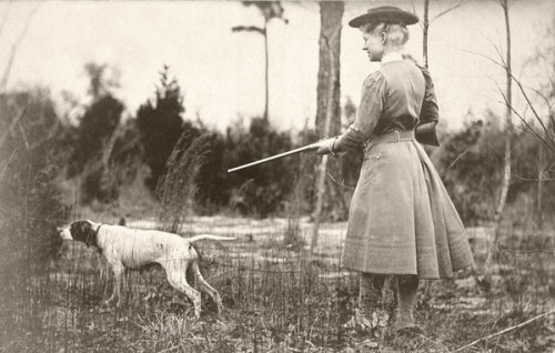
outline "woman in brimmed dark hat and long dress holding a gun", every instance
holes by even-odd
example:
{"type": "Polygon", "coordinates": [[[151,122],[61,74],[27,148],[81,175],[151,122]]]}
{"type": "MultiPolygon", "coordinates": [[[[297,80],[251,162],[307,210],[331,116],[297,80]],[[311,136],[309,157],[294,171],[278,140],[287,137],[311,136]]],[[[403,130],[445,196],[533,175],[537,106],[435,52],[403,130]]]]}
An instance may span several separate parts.
{"type": "Polygon", "coordinates": [[[473,263],[461,219],[414,137],[420,122],[437,121],[427,71],[402,57],[406,26],[416,22],[411,12],[380,7],[349,23],[361,29],[363,50],[381,68],[364,80],[354,123],[317,151],[335,155],[364,148],[343,263],[361,272],[365,315],[377,309],[384,276],[396,275],[396,331],[417,329],[413,307],[421,279],[450,278],[473,263]]]}

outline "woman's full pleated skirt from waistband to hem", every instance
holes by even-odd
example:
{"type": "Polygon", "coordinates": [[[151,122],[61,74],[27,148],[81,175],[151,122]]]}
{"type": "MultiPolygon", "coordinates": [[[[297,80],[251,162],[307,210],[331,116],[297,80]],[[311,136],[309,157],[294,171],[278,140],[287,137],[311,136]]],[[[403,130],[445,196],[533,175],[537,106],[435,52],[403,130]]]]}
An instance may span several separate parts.
{"type": "Polygon", "coordinates": [[[422,145],[369,145],[351,201],[344,266],[440,279],[473,261],[463,223],[422,145]]]}

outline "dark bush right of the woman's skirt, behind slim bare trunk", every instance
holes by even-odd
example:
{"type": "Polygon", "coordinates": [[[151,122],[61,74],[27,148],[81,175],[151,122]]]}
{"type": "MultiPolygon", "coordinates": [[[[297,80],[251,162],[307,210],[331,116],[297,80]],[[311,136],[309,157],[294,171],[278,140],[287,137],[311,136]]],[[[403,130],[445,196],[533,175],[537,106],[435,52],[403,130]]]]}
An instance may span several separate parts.
{"type": "MultiPolygon", "coordinates": [[[[433,158],[461,218],[467,225],[493,219],[503,178],[505,133],[493,121],[474,121],[447,135],[433,158]]],[[[513,138],[507,206],[526,204],[528,213],[546,218],[555,212],[555,183],[549,174],[554,154],[536,137],[519,132],[513,138]],[[538,183],[538,175],[543,181],[538,183]],[[528,205],[534,204],[531,209],[528,205]]],[[[516,220],[515,220],[516,221],[516,220]]]]}

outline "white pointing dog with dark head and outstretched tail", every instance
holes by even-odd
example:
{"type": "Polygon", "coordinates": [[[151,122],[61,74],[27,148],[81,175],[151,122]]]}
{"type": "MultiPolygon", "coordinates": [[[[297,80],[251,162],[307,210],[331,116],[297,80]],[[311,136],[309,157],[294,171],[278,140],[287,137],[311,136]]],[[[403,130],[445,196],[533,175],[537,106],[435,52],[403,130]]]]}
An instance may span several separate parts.
{"type": "Polygon", "coordinates": [[[182,238],[168,232],[137,230],[122,225],[95,223],[90,220],[77,221],[68,226],[59,228],[59,232],[62,240],[80,241],[87,246],[98,248],[108,261],[115,283],[107,304],[118,300],[117,306],[121,306],[121,284],[125,270],[158,263],[164,269],[168,282],[193,302],[196,317],[201,315],[201,293],[186,282],[185,271],[189,266],[200,290],[208,293],[214,301],[218,314],[222,311],[220,293],[202,276],[198,263],[199,255],[192,244],[201,240],[225,241],[235,240],[235,238],[211,234],[182,238]]]}

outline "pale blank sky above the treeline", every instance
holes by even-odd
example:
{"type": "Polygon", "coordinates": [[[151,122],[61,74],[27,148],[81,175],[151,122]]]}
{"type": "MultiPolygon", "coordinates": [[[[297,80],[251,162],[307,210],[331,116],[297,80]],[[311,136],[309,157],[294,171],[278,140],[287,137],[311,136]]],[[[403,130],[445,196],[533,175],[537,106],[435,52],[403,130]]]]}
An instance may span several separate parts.
{"type": "MultiPolygon", "coordinates": [[[[432,0],[431,18],[458,0],[432,0]]],[[[414,10],[423,0],[347,1],[341,48],[341,94],[356,104],[364,78],[377,69],[362,51],[362,36],[350,19],[384,3],[414,10]]],[[[555,1],[509,2],[513,69],[528,85],[542,80],[531,64],[549,43],[555,1]]],[[[314,124],[319,65],[320,12],[316,2],[283,1],[287,23],[269,23],[270,121],[281,129],[314,124]]],[[[234,26],[262,26],[254,7],[238,1],[0,1],[0,70],[18,38],[8,89],[50,88],[87,103],[87,62],[118,72],[128,117],[154,95],[164,64],[184,93],[185,118],[224,130],[231,123],[263,114],[264,44],[259,33],[232,32],[234,26]],[[28,27],[26,27],[28,23],[28,27]]],[[[410,27],[406,51],[422,61],[422,30],[410,27]]],[[[551,38],[553,41],[553,38],[551,38]]],[[[492,62],[505,50],[505,24],[494,0],[470,1],[437,18],[430,29],[430,69],[442,124],[458,129],[471,111],[477,118],[503,111],[503,70],[492,62]],[[490,59],[488,59],[490,58],[490,59]]],[[[516,97],[517,102],[522,101],[516,97]]],[[[524,108],[522,108],[524,111],[524,108]]]]}

